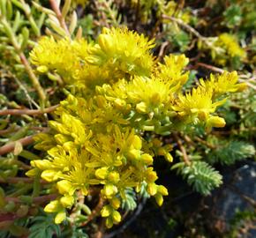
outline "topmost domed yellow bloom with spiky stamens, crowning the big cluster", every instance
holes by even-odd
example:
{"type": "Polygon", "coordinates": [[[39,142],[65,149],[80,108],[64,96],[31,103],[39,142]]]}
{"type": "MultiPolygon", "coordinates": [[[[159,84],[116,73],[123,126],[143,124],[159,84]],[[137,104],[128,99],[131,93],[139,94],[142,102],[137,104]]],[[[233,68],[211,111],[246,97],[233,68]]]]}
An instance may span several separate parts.
{"type": "Polygon", "coordinates": [[[118,68],[124,72],[123,76],[125,73],[149,76],[154,64],[150,53],[153,47],[153,41],[127,28],[104,28],[87,61],[97,65],[109,63],[110,69],[118,68]]]}

